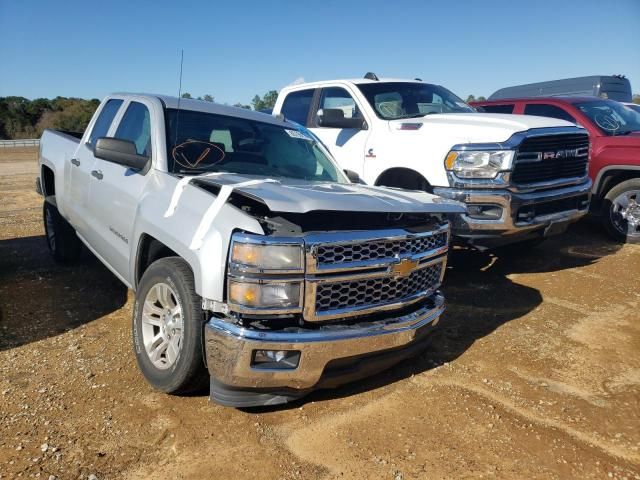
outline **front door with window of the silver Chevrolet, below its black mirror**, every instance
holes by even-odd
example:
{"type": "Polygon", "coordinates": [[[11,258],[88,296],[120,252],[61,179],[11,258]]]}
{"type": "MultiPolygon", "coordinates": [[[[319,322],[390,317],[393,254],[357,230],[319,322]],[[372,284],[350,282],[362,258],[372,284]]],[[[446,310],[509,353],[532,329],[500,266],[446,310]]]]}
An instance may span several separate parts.
{"type": "MultiPolygon", "coordinates": [[[[146,102],[145,102],[146,103],[146,102]]],[[[152,105],[130,101],[118,122],[114,138],[135,144],[138,155],[153,162],[152,105]]],[[[116,120],[117,121],[117,120],[116,120]]],[[[137,207],[149,173],[133,170],[100,158],[91,170],[89,217],[91,246],[123,279],[130,280],[129,259],[137,207]]]]}

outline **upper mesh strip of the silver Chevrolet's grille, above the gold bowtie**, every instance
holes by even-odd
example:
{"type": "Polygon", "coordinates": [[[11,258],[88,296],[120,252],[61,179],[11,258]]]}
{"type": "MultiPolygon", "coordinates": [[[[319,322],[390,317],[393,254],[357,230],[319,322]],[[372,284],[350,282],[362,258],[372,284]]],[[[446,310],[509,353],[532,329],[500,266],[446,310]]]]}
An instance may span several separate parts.
{"type": "Polygon", "coordinates": [[[415,255],[447,245],[447,233],[399,240],[372,240],[364,243],[320,245],[316,250],[319,265],[398,258],[415,255]]]}

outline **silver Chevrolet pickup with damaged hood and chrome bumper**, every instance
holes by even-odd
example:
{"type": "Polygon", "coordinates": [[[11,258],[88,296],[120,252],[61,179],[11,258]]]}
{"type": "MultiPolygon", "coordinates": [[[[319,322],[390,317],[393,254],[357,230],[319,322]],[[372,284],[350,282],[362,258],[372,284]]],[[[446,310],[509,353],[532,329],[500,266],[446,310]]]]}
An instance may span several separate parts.
{"type": "Polygon", "coordinates": [[[84,244],[135,291],[135,354],[162,391],[286,402],[415,354],[443,312],[463,206],[352,184],[297,124],[114,94],[80,138],[47,130],[39,168],[54,258],[84,244]]]}

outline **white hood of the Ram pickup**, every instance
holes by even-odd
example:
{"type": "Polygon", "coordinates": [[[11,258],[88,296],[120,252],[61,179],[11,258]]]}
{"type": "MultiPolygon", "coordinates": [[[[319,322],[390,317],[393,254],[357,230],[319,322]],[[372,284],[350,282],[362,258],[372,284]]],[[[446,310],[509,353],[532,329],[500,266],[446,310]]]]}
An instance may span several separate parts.
{"type": "Polygon", "coordinates": [[[442,113],[389,121],[389,128],[400,134],[420,135],[421,132],[429,132],[451,138],[452,132],[455,132],[456,143],[499,143],[508,140],[516,132],[548,127],[576,125],[555,118],[501,113],[442,113]],[[419,123],[422,127],[414,131],[399,130],[400,125],[406,123],[419,123]]]}

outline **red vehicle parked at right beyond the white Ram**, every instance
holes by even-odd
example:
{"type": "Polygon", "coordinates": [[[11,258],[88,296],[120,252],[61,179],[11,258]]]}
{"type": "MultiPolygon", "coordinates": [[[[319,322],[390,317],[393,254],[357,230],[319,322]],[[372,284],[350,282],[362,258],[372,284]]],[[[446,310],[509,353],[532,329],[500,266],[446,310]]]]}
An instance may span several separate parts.
{"type": "MultiPolygon", "coordinates": [[[[482,112],[560,118],[586,128],[591,137],[591,212],[616,240],[640,243],[640,113],[597,97],[514,98],[471,105],[482,112]]],[[[542,153],[547,152],[540,155],[544,162],[542,153]]]]}

